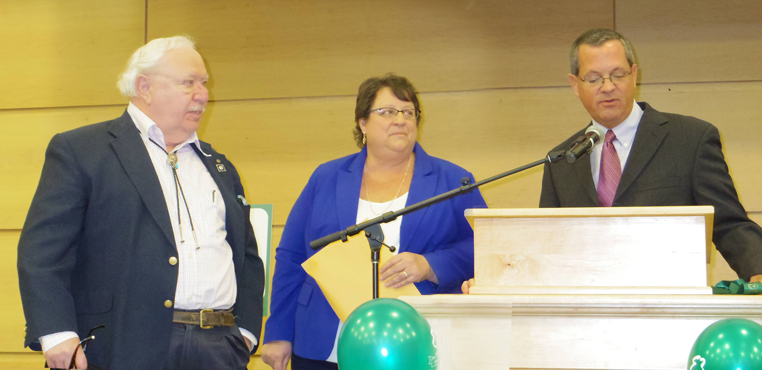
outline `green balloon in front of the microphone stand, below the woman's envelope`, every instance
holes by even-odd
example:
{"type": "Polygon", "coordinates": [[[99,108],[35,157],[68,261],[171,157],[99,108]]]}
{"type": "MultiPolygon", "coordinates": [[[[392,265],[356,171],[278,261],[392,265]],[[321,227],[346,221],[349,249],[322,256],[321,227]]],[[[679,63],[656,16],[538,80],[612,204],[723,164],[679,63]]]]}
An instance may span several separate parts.
{"type": "Polygon", "coordinates": [[[399,299],[363,303],[347,317],[338,337],[341,370],[432,370],[438,362],[428,321],[399,299]]]}

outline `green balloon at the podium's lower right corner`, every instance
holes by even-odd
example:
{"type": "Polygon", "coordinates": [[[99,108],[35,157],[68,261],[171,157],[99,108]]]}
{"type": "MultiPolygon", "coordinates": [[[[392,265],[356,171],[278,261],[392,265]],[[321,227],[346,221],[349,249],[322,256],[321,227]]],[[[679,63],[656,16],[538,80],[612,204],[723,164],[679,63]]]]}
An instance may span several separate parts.
{"type": "Polygon", "coordinates": [[[688,370],[762,369],[762,325],[728,318],[706,327],[688,356],[688,370]]]}

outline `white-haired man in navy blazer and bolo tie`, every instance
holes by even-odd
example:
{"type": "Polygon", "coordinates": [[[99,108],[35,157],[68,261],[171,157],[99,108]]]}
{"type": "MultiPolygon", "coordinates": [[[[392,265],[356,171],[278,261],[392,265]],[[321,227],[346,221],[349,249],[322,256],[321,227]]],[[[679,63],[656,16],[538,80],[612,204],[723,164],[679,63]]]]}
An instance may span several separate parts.
{"type": "Polygon", "coordinates": [[[122,116],[50,141],[18,245],[25,346],[50,367],[245,368],[256,349],[264,269],[239,174],[197,139],[208,78],[187,37],[152,40],[122,116]]]}

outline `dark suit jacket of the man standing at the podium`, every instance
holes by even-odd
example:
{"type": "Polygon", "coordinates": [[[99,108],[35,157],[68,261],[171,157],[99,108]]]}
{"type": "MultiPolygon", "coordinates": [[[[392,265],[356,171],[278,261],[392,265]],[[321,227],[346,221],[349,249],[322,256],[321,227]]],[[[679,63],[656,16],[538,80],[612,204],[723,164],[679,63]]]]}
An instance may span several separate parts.
{"type": "MultiPolygon", "coordinates": [[[[691,116],[646,103],[613,206],[714,206],[712,241],[743,279],[762,273],[762,228],[738,201],[719,132],[691,116]]],[[[566,150],[584,129],[553,151],[566,150]]],[[[596,207],[590,160],[545,165],[540,207],[596,207]]]]}

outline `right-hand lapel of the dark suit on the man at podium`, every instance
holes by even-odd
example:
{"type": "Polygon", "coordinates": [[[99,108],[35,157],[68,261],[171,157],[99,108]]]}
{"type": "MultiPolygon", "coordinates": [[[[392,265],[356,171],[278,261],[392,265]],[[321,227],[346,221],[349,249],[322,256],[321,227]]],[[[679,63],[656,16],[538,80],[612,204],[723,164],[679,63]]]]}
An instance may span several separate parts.
{"type": "Polygon", "coordinates": [[[614,203],[638,178],[645,165],[653,157],[656,149],[664,141],[664,137],[667,136],[668,130],[662,126],[664,123],[667,123],[667,118],[648,104],[645,104],[643,110],[638,132],[635,134],[635,140],[632,143],[632,151],[627,157],[627,163],[622,171],[619,187],[616,188],[614,203]]]}

